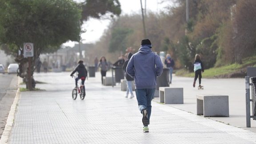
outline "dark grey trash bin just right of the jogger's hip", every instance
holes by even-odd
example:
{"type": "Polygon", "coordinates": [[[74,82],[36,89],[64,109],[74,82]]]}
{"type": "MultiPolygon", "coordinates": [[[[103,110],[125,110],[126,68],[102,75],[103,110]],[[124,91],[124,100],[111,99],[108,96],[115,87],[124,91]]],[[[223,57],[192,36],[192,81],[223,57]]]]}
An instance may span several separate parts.
{"type": "Polygon", "coordinates": [[[169,87],[170,84],[170,72],[169,68],[164,68],[161,76],[156,78],[156,92],[154,97],[159,97],[159,87],[169,87]]]}

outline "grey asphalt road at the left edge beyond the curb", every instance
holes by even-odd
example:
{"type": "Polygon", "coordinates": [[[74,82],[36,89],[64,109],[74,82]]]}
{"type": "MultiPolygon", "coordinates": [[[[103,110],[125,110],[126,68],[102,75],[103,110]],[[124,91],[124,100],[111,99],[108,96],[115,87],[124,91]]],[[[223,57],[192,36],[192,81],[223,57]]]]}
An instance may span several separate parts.
{"type": "Polygon", "coordinates": [[[0,74],[0,137],[16,96],[17,82],[18,77],[16,74],[0,74]]]}

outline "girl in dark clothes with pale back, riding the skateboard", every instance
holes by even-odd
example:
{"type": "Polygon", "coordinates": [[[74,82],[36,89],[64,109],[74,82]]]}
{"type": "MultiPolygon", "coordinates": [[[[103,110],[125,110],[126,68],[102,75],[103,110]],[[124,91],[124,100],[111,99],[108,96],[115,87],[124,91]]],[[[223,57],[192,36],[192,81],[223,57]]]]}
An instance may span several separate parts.
{"type": "Polygon", "coordinates": [[[195,88],[196,86],[196,79],[198,78],[199,80],[199,87],[198,88],[202,88],[201,86],[201,78],[202,78],[202,72],[204,72],[204,65],[201,61],[200,55],[196,54],[195,56],[195,61],[194,61],[194,72],[195,72],[195,78],[194,78],[194,83],[193,83],[193,87],[195,88]]]}

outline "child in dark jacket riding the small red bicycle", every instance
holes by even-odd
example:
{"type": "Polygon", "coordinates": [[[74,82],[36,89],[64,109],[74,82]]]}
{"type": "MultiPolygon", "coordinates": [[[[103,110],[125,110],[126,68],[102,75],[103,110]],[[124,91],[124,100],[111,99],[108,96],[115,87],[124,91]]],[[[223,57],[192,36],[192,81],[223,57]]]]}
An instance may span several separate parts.
{"type": "Polygon", "coordinates": [[[79,60],[78,65],[76,66],[74,71],[70,74],[70,76],[73,76],[75,72],[78,72],[78,76],[76,78],[76,87],[77,87],[77,81],[80,79],[82,80],[82,84],[84,85],[85,78],[87,77],[87,69],[85,68],[83,63],[84,63],[83,60],[79,60]]]}

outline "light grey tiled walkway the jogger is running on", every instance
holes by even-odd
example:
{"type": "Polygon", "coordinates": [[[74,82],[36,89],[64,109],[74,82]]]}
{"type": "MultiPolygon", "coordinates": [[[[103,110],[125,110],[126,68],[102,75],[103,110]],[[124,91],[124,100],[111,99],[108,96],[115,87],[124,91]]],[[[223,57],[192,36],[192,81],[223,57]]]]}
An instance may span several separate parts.
{"type": "MultiPolygon", "coordinates": [[[[111,72],[107,73],[110,76],[111,72]]],[[[45,91],[20,92],[11,144],[254,144],[256,134],[152,103],[149,133],[142,132],[136,99],[120,85],[102,86],[100,74],[85,82],[86,97],[72,100],[69,73],[40,73],[45,91]]]]}

